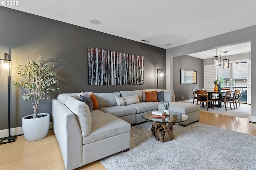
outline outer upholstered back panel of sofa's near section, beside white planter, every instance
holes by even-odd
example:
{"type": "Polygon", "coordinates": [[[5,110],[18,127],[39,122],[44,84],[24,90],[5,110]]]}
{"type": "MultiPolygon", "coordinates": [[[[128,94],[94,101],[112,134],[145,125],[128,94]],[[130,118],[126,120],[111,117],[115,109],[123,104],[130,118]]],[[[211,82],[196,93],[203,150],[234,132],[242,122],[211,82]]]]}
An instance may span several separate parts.
{"type": "Polygon", "coordinates": [[[67,170],[83,166],[82,132],[75,115],[57,99],[52,100],[53,130],[67,170]]]}

